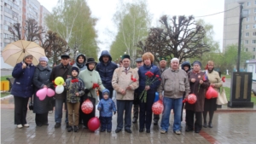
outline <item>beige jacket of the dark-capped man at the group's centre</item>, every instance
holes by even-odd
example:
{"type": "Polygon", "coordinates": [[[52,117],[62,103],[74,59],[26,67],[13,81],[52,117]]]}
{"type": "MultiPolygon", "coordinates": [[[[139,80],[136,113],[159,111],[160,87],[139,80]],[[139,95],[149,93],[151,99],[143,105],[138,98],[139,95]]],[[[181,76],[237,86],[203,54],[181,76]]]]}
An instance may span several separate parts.
{"type": "Polygon", "coordinates": [[[130,67],[127,74],[125,73],[125,67],[119,67],[114,70],[112,78],[113,89],[117,92],[117,100],[133,100],[134,99],[134,90],[138,87],[138,74],[137,71],[130,67]],[[131,75],[133,78],[137,78],[137,82],[131,81],[131,75]],[[132,83],[131,83],[132,82],[132,83]],[[131,89],[126,89],[128,86],[131,86],[131,89]],[[126,95],[122,95],[121,91],[126,89],[126,95]]]}

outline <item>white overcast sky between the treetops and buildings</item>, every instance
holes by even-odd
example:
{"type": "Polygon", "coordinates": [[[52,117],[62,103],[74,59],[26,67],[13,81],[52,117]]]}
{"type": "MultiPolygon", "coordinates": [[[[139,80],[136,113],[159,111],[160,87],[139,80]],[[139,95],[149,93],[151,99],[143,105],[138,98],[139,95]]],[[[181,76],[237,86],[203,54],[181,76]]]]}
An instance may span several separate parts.
{"type": "MultiPolygon", "coordinates": [[[[58,0],[38,0],[49,11],[55,7],[58,0]]],[[[110,32],[116,32],[113,25],[113,14],[119,0],[87,0],[93,17],[98,19],[96,31],[101,50],[109,49],[113,38],[110,32]]],[[[129,0],[127,0],[129,1],[129,0]]],[[[131,0],[130,0],[131,1],[131,0]]],[[[167,15],[191,15],[197,16],[215,14],[224,11],[224,0],[148,0],[148,10],[153,14],[152,25],[155,26],[163,14],[167,15]]],[[[224,13],[201,18],[213,25],[214,40],[219,42],[222,50],[224,13]]]]}

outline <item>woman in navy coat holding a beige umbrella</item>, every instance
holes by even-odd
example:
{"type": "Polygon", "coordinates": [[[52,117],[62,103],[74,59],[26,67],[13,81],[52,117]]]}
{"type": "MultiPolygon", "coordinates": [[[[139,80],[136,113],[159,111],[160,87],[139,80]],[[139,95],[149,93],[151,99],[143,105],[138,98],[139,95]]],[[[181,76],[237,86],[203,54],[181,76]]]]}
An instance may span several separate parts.
{"type": "Polygon", "coordinates": [[[16,64],[12,76],[15,78],[11,95],[15,98],[15,124],[18,128],[29,127],[26,123],[27,102],[33,95],[32,78],[35,66],[32,64],[33,56],[26,55],[20,63],[16,64]]]}

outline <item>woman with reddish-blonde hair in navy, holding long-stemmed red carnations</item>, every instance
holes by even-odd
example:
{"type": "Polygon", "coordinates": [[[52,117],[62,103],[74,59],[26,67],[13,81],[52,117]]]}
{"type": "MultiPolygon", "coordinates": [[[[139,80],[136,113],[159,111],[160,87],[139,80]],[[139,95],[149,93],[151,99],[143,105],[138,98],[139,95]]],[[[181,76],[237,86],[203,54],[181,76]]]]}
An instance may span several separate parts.
{"type": "Polygon", "coordinates": [[[157,79],[154,81],[154,83],[150,85],[146,85],[146,79],[147,76],[145,75],[146,72],[152,72],[155,75],[160,76],[160,70],[157,66],[154,66],[154,55],[147,52],[143,54],[143,66],[140,66],[138,68],[138,75],[139,75],[139,87],[137,89],[138,94],[142,95],[144,90],[147,90],[146,95],[146,102],[143,100],[143,96],[141,97],[139,101],[140,105],[140,132],[144,131],[144,125],[146,122],[146,132],[150,133],[150,126],[152,122],[152,105],[154,103],[154,96],[155,92],[160,85],[160,80],[157,79]],[[146,121],[145,121],[146,118],[146,121]]]}

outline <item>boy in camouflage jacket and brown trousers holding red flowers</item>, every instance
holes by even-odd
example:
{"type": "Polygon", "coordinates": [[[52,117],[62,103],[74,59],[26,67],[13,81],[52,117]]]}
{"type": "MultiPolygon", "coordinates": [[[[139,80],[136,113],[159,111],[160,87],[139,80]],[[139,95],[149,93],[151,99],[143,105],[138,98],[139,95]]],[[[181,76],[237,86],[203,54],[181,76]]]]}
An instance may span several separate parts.
{"type": "Polygon", "coordinates": [[[68,126],[67,132],[79,131],[79,107],[80,96],[84,95],[84,83],[79,76],[79,67],[72,67],[72,77],[67,78],[66,83],[63,84],[67,89],[67,112],[68,112],[68,126]],[[74,122],[73,122],[74,114],[74,122]],[[74,125],[74,127],[72,127],[74,125]]]}

